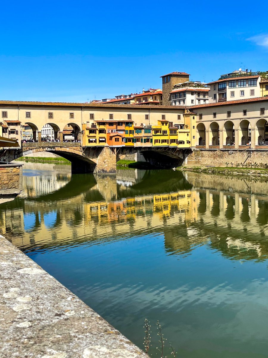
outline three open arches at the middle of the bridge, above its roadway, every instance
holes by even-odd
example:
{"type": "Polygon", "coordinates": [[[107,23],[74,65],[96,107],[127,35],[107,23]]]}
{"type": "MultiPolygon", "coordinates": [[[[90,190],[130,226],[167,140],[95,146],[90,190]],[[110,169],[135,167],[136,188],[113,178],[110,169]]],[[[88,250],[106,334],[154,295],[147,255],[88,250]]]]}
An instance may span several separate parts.
{"type": "Polygon", "coordinates": [[[74,137],[75,140],[82,140],[81,128],[76,123],[72,123],[72,122],[67,123],[66,126],[64,126],[64,128],[62,130],[60,129],[60,127],[58,125],[56,125],[53,122],[44,124],[44,126],[42,128],[38,128],[32,122],[25,122],[25,125],[30,126],[31,130],[33,131],[33,140],[34,141],[40,141],[41,137],[43,139],[46,136],[47,137],[50,136],[50,138],[54,139],[54,140],[64,140],[64,136],[69,136],[69,135],[74,137]],[[50,126],[49,130],[48,130],[47,125],[50,126]],[[41,134],[42,129],[45,132],[44,134],[41,134]],[[47,131],[49,131],[49,133],[47,133],[47,131]],[[50,133],[50,131],[51,131],[51,133],[50,133]]]}

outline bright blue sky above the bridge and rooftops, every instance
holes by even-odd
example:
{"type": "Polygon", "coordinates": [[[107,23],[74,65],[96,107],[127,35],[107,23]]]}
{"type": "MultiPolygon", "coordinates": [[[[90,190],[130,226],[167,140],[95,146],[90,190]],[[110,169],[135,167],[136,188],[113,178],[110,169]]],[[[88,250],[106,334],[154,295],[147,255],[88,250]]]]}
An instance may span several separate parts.
{"type": "Polygon", "coordinates": [[[267,5],[240,4],[5,1],[0,99],[85,102],[160,88],[173,71],[266,71],[267,5]]]}

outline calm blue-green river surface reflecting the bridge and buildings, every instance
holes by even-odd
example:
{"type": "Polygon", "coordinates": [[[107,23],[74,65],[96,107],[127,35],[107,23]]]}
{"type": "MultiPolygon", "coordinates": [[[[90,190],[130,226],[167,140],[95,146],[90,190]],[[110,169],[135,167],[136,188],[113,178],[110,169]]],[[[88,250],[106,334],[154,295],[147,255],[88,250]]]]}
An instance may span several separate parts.
{"type": "Polygon", "coordinates": [[[23,183],[0,234],[141,348],[148,318],[153,357],[156,320],[168,357],[267,357],[266,180],[26,163],[23,183]]]}

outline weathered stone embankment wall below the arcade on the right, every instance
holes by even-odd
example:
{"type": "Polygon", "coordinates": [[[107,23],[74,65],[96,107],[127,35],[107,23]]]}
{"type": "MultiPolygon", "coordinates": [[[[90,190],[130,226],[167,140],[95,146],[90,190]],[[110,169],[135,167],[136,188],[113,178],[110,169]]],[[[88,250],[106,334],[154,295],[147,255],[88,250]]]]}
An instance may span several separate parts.
{"type": "Polygon", "coordinates": [[[268,164],[267,150],[194,150],[185,160],[186,166],[250,166],[257,163],[257,167],[268,164]]]}

